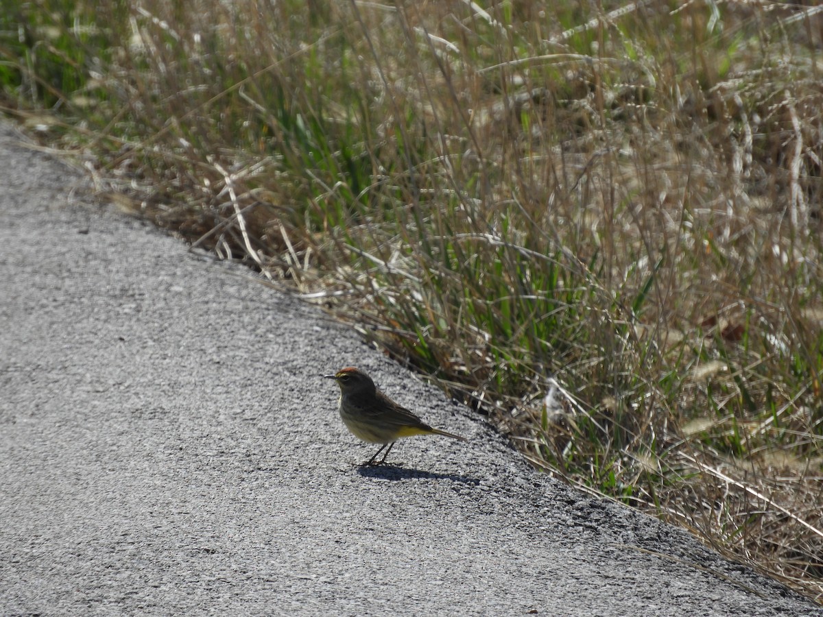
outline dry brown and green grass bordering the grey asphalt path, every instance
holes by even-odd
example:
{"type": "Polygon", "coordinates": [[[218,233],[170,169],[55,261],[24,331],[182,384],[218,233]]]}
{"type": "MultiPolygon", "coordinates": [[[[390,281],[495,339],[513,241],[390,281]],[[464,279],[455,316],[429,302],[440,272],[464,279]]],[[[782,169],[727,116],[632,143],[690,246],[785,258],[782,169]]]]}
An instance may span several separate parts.
{"type": "Polygon", "coordinates": [[[75,4],[0,80],[101,190],[821,601],[820,8],[75,4]]]}

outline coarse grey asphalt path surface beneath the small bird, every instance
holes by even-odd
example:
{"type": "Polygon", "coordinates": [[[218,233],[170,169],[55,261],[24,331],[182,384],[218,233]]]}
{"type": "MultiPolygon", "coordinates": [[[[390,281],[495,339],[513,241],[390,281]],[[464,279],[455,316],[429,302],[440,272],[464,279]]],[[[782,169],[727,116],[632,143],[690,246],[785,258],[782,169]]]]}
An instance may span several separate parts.
{"type": "Polygon", "coordinates": [[[21,139],[0,124],[0,615],[823,615],[21,139]],[[347,365],[468,442],[357,466],[320,377],[347,365]]]}

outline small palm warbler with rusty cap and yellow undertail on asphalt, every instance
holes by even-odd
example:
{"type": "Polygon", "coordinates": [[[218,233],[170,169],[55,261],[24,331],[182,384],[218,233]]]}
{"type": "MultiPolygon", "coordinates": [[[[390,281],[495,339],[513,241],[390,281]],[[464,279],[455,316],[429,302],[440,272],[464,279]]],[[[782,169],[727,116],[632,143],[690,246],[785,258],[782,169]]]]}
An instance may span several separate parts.
{"type": "Polygon", "coordinates": [[[323,375],[323,377],[334,379],[340,386],[339,411],[346,428],[356,438],[370,443],[383,444],[377,452],[374,452],[374,457],[371,457],[364,465],[380,465],[385,462],[394,442],[401,437],[444,435],[466,441],[466,438],[459,435],[432,429],[411,411],[380,392],[371,378],[363,371],[349,367],[333,375],[323,375]],[[386,446],[388,450],[383,458],[375,463],[374,459],[384,451],[386,446]]]}

